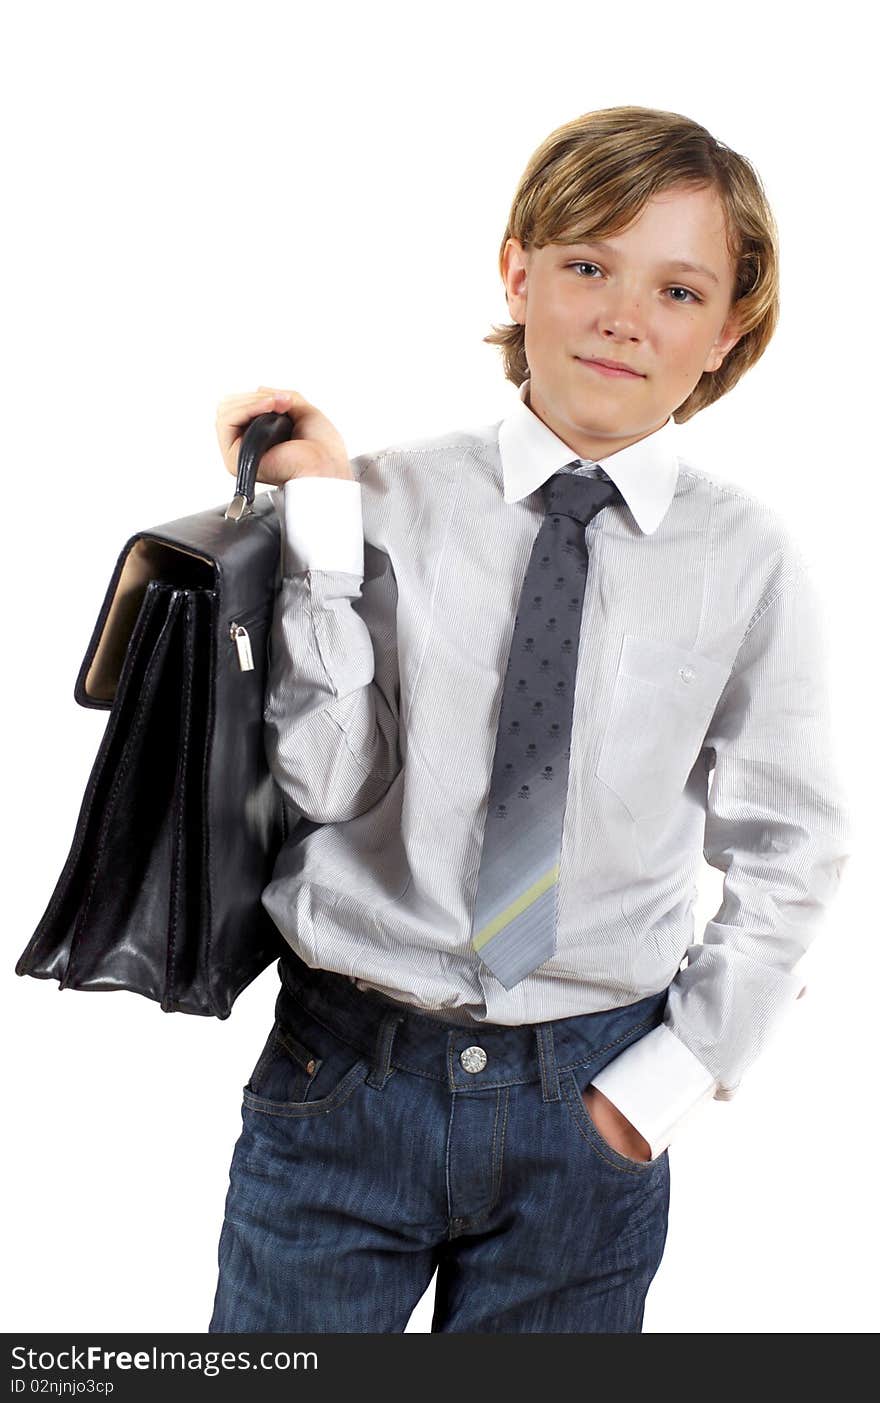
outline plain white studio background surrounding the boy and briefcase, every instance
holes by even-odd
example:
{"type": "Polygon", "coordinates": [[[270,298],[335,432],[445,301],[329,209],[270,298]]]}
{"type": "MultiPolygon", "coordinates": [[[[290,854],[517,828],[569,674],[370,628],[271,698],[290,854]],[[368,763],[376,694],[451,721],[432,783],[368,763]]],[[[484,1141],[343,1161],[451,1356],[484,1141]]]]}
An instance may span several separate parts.
{"type": "MultiPolygon", "coordinates": [[[[276,989],[269,967],[220,1021],[13,972],[107,723],[73,682],[119,549],[229,499],[222,394],[298,389],[351,455],[500,419],[516,391],[481,337],[507,320],[515,184],[556,126],[630,102],[747,154],[779,222],[779,330],[681,432],[817,558],[858,829],[797,1016],[671,1146],[644,1330],[877,1327],[877,130],[858,13],[80,0],[7,20],[3,1329],[206,1330],[276,989]]],[[[706,868],[698,932],[719,901],[706,868]]]]}

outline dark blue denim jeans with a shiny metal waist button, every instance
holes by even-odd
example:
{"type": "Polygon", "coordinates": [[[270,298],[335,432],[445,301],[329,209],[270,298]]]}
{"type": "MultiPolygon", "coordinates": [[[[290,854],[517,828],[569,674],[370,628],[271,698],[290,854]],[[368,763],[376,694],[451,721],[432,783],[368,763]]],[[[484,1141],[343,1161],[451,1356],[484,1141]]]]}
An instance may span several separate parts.
{"type": "Polygon", "coordinates": [[[456,1027],[291,951],[243,1089],[212,1333],[639,1333],[669,1163],[629,1159],[581,1092],[667,991],[456,1027]]]}

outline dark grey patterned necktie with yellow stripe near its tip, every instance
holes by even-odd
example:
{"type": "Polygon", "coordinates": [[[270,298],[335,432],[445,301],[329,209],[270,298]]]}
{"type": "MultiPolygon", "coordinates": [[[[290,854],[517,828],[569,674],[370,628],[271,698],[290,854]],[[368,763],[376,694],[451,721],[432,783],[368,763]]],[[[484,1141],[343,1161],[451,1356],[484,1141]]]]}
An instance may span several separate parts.
{"type": "MultiPolygon", "coordinates": [[[[580,462],[580,459],[578,459],[580,462]]],[[[472,946],[505,989],[556,950],[556,880],[587,585],[584,528],[622,501],[605,477],[554,473],[504,679],[472,946]]]]}

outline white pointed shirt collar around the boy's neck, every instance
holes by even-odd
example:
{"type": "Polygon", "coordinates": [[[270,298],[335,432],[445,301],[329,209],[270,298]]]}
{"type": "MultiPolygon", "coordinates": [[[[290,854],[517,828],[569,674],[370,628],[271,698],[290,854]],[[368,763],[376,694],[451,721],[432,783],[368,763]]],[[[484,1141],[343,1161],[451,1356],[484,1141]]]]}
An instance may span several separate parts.
{"type": "MultiPolygon", "coordinates": [[[[522,382],[519,398],[498,425],[505,502],[518,502],[538,491],[553,473],[577,457],[568,443],[529,408],[529,383],[528,379],[522,382]]],[[[665,424],[629,448],[620,448],[602,459],[581,459],[584,463],[596,463],[608,473],[646,535],[657,530],[675,495],[678,428],[669,414],[665,424]]]]}

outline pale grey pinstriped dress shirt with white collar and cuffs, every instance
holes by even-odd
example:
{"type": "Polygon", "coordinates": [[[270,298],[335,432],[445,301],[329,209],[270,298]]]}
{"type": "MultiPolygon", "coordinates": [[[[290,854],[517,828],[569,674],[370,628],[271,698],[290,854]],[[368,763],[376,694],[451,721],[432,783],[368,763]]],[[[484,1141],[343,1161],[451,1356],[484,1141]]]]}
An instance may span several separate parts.
{"type": "Polygon", "coordinates": [[[672,417],[578,460],[528,387],[498,424],[271,490],[267,756],[291,819],[323,826],[262,904],[306,964],[477,1030],[668,986],[662,1024],[594,1078],[657,1157],[803,993],[848,857],[821,600],[780,516],[682,459],[672,417]],[[573,460],[623,501],[585,528],[556,951],[508,991],[472,913],[540,485],[573,460]],[[696,941],[700,856],[724,885],[696,941]]]}

